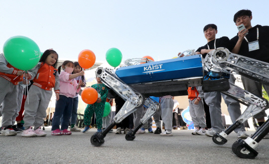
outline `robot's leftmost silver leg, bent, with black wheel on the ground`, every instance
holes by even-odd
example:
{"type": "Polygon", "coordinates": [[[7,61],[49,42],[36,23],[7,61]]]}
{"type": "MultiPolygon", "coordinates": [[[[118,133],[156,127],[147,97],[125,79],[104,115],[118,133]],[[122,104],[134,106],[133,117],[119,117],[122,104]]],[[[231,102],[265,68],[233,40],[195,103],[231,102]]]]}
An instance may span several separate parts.
{"type": "Polygon", "coordinates": [[[103,132],[97,132],[92,136],[91,143],[94,146],[101,146],[105,142],[104,138],[106,137],[107,133],[117,123],[120,123],[138,107],[144,104],[144,97],[126,83],[122,82],[111,69],[99,68],[96,70],[96,76],[99,77],[104,84],[113,89],[118,95],[126,100],[121,110],[114,117],[114,121],[103,132]]]}

